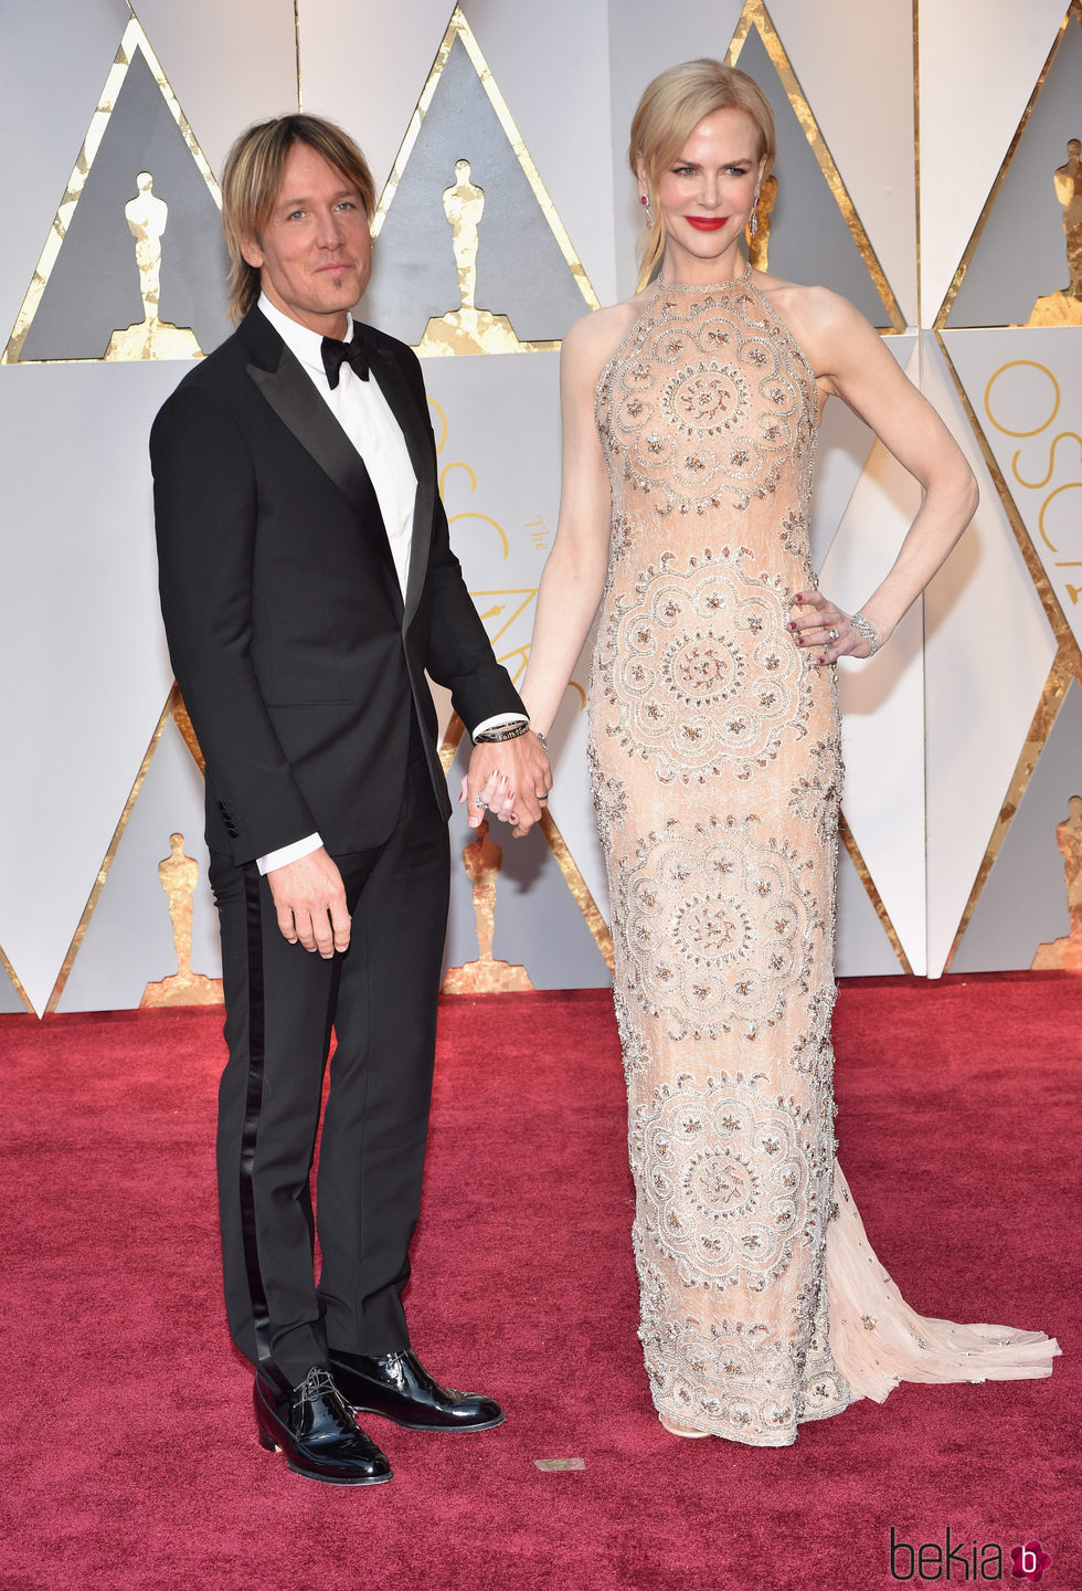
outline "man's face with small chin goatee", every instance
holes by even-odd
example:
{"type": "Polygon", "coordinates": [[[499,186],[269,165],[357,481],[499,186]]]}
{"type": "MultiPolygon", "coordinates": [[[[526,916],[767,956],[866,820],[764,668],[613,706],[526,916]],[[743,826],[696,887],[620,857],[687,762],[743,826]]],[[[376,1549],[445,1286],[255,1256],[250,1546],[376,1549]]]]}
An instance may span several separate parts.
{"type": "Polygon", "coordinates": [[[324,337],[342,337],[372,274],[361,194],[323,154],[294,143],[264,234],[246,239],[242,253],[272,304],[324,337]]]}

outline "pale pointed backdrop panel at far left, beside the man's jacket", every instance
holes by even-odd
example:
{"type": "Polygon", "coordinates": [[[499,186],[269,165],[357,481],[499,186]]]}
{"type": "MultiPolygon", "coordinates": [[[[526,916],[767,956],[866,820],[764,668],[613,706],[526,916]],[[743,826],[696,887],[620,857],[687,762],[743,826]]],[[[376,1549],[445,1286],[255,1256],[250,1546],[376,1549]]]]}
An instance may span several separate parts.
{"type": "Polygon", "coordinates": [[[168,694],[156,598],[154,412],[181,364],[0,368],[0,943],[38,1010],[168,694]],[[38,902],[27,910],[27,902],[38,902]],[[48,902],[48,908],[41,905],[48,902]]]}

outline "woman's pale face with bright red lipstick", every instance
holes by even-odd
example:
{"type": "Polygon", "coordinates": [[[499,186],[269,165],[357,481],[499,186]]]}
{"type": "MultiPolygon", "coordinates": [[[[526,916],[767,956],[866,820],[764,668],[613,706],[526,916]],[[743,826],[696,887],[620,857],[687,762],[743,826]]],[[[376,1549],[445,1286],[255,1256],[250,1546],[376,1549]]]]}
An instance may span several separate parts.
{"type": "Polygon", "coordinates": [[[747,111],[715,110],[691,129],[658,177],[670,266],[709,280],[702,267],[744,235],[764,165],[759,130],[747,111]]]}

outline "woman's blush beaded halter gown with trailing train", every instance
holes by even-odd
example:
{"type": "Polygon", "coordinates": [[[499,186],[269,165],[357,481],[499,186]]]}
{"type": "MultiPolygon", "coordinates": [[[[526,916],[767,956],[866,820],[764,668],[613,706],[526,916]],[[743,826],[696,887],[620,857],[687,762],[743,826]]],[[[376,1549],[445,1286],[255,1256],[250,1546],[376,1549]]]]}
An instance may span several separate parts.
{"type": "Polygon", "coordinates": [[[596,422],[589,765],[655,1403],[785,1446],[899,1379],[1049,1375],[1039,1332],[909,1309],[834,1158],[837,692],[786,630],[815,585],[813,372],[747,270],[658,283],[596,422]]]}

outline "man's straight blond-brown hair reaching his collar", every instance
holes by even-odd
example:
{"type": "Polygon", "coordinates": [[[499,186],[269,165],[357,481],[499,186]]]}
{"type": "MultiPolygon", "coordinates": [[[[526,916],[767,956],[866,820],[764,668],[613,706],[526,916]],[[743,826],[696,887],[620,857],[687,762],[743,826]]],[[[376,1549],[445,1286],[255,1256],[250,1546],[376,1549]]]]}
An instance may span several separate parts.
{"type": "Polygon", "coordinates": [[[259,121],[234,143],[222,172],[222,229],[229,250],[229,313],[242,320],[259,299],[261,275],[243,255],[256,243],[278,202],[289,151],[307,143],[323,154],[357,189],[365,215],[375,210],[375,183],[369,162],[348,132],[323,116],[294,113],[259,121]]]}

